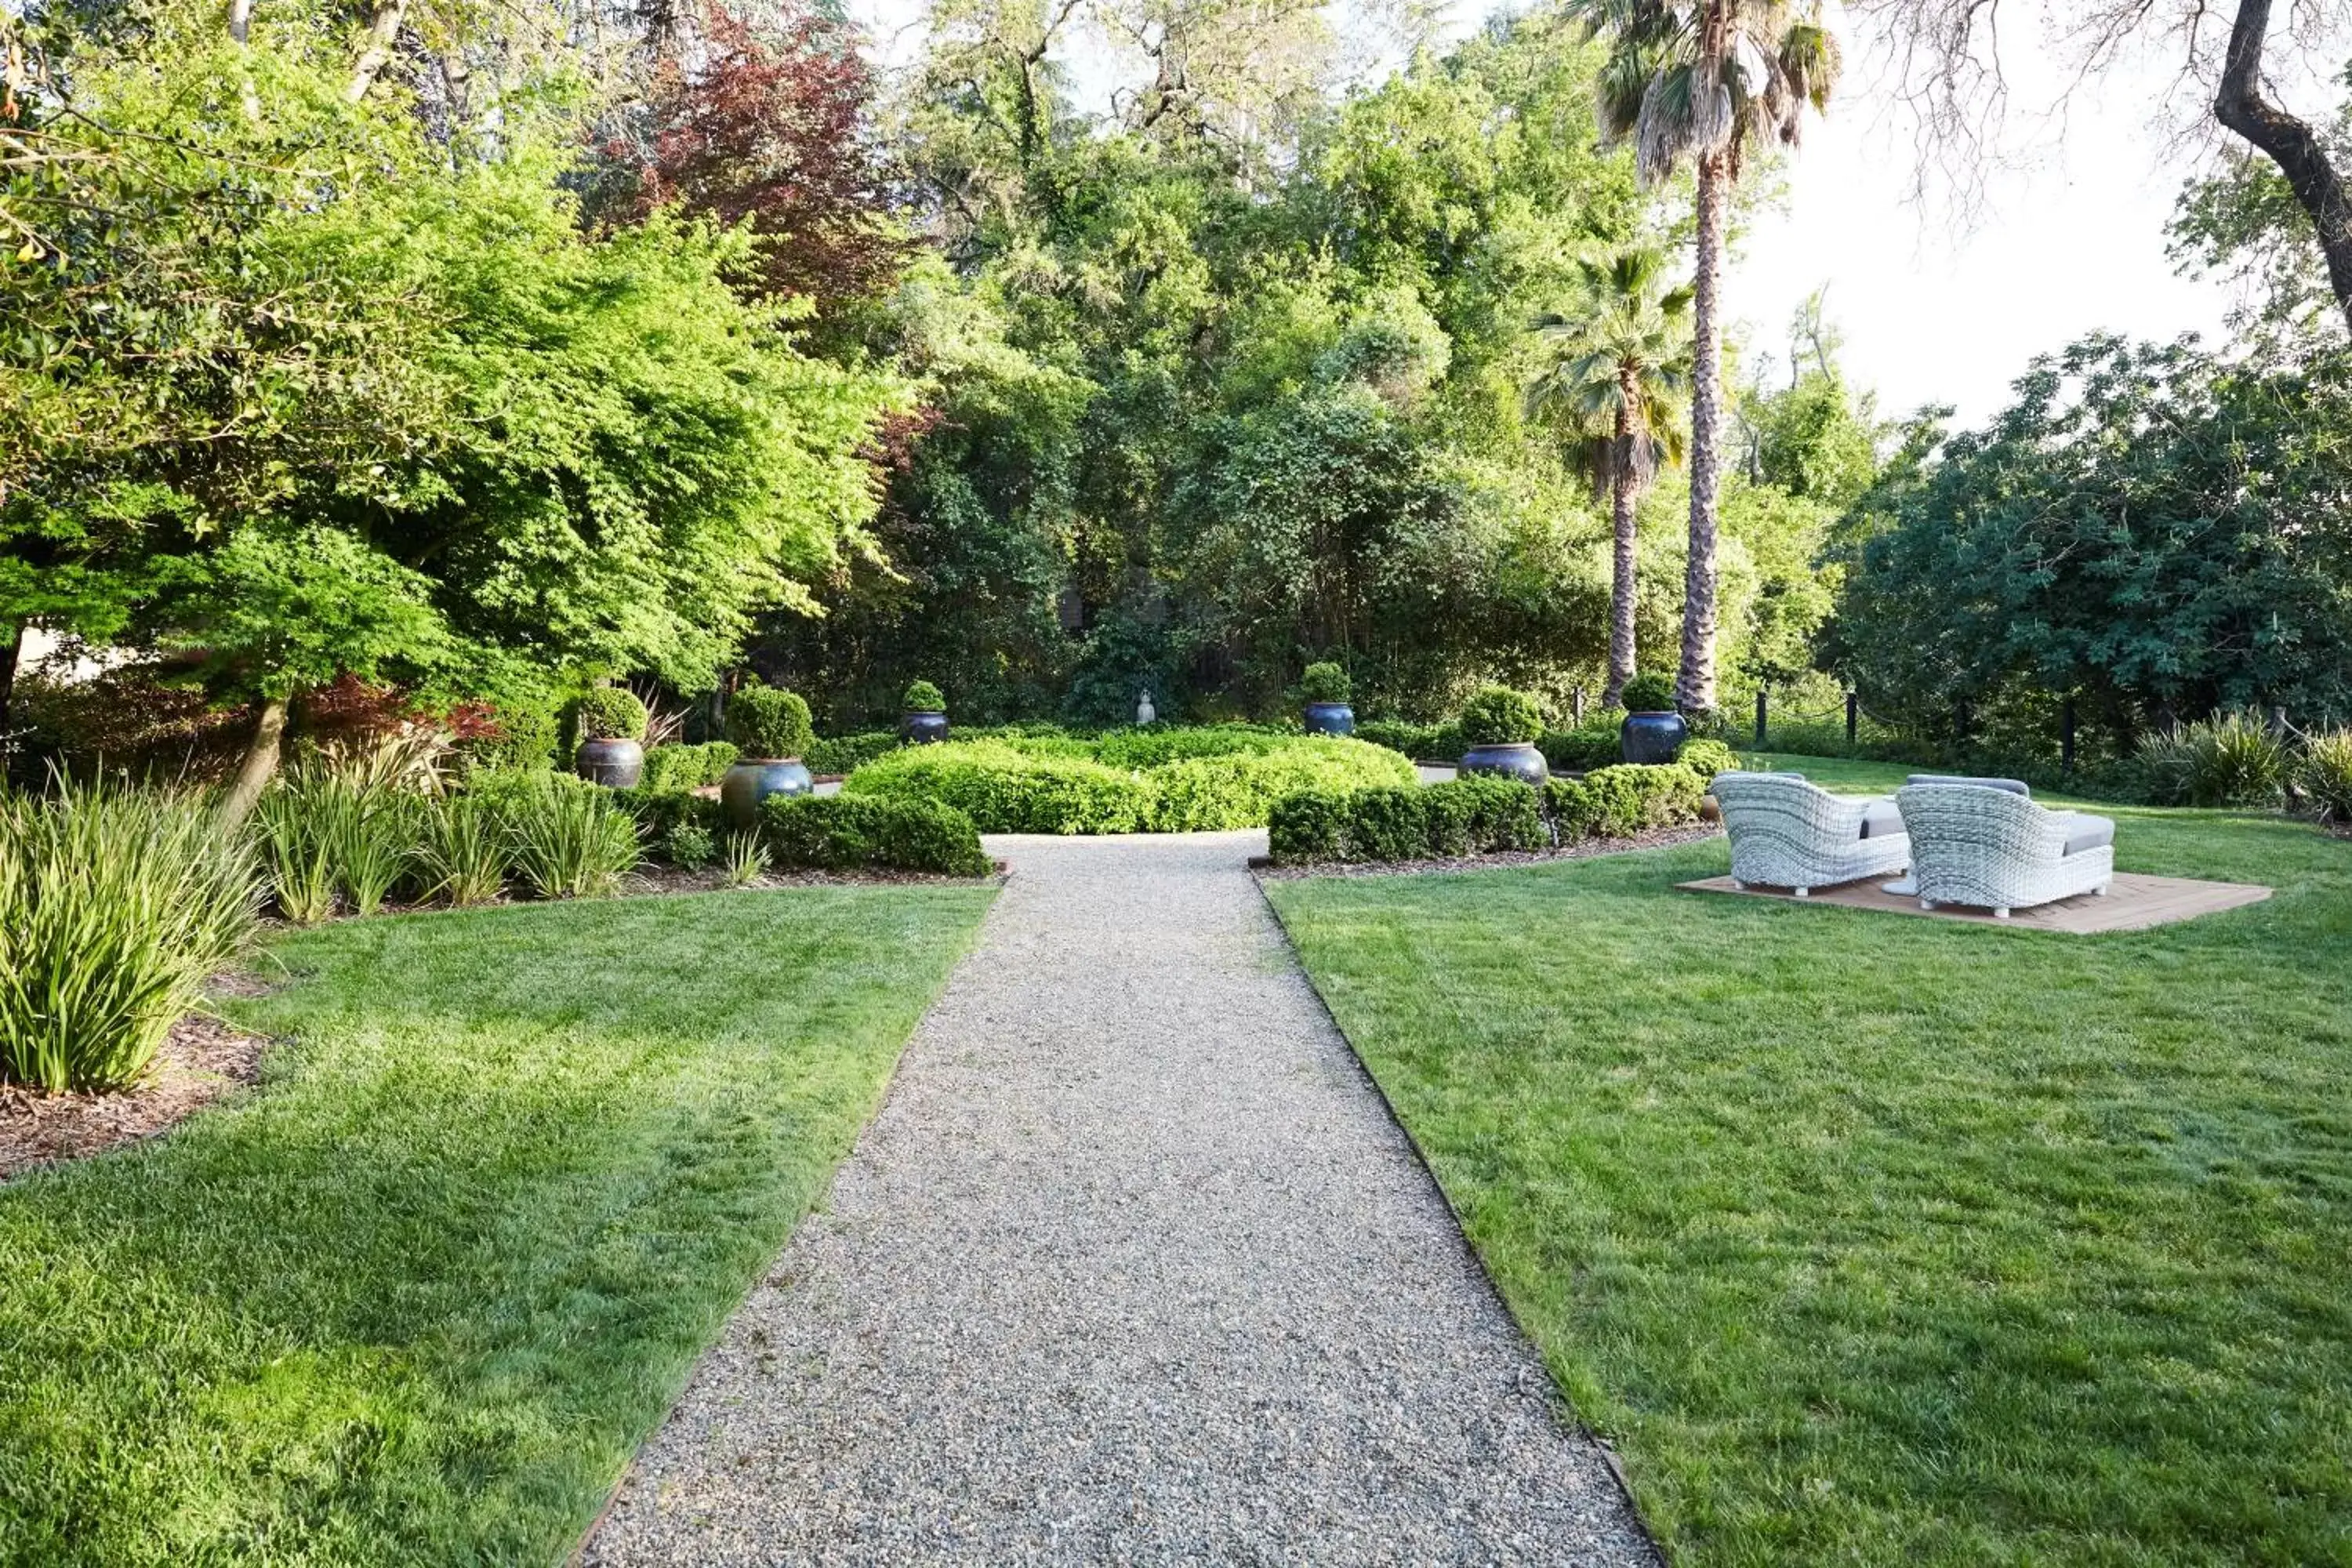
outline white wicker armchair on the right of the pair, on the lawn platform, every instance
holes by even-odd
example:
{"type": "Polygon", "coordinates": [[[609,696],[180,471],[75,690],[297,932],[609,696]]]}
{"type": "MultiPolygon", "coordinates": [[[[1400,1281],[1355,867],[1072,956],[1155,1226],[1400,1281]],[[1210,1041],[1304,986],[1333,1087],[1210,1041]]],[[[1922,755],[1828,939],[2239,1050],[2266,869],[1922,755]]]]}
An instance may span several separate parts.
{"type": "Polygon", "coordinates": [[[1959,903],[2011,910],[2105,893],[2114,879],[2114,823],[2046,811],[2023,795],[1985,785],[1896,790],[1912,842],[1919,907],[1959,903]]]}

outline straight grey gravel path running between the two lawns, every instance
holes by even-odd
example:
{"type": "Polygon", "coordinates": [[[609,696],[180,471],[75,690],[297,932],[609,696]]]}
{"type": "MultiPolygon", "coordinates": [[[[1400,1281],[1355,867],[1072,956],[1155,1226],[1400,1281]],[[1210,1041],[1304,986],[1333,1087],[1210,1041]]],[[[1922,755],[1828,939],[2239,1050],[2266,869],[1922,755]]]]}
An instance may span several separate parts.
{"type": "Polygon", "coordinates": [[[1249,877],[1014,875],[590,1563],[1656,1563],[1249,877]]]}

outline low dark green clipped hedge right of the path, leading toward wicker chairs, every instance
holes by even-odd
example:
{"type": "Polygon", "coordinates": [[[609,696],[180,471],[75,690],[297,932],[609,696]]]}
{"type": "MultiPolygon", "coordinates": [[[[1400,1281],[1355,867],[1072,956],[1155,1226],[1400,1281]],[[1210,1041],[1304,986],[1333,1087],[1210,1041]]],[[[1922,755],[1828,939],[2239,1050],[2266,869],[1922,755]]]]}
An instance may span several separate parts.
{"type": "Polygon", "coordinates": [[[1508,778],[1381,790],[1301,790],[1275,802],[1275,865],[1458,860],[1623,839],[1698,820],[1700,776],[1679,764],[1616,764],[1531,790],[1508,778]]]}

